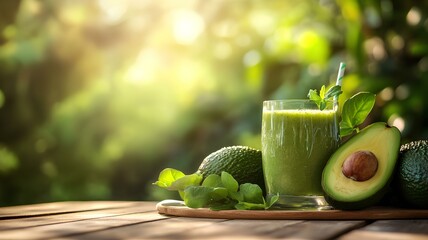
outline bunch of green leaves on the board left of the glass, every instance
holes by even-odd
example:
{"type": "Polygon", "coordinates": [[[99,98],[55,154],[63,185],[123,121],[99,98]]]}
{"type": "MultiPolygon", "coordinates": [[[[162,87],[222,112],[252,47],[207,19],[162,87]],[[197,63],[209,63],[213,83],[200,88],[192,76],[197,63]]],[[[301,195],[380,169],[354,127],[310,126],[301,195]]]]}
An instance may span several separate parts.
{"type": "Polygon", "coordinates": [[[185,175],[179,170],[167,168],[153,184],[179,191],[184,203],[190,208],[263,210],[271,208],[279,198],[276,195],[266,201],[259,185],[239,185],[227,172],[222,172],[220,176],[211,174],[202,181],[201,174],[185,175]]]}

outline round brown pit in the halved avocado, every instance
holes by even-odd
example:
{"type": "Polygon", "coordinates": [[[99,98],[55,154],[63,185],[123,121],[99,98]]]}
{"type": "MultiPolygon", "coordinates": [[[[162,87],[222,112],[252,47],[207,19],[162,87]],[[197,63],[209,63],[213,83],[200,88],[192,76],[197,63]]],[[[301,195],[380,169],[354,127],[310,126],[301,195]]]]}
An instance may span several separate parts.
{"type": "Polygon", "coordinates": [[[363,182],[377,171],[378,159],[370,151],[357,151],[349,155],[342,165],[342,173],[354,181],[363,182]]]}

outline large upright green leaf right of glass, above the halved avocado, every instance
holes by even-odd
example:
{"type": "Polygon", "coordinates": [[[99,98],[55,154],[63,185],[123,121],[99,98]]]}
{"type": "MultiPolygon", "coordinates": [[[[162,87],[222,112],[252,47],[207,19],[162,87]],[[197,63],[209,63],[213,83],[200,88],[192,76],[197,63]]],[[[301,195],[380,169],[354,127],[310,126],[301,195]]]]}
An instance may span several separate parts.
{"type": "Polygon", "coordinates": [[[358,125],[367,118],[375,104],[376,95],[369,92],[360,92],[345,101],[342,108],[340,122],[340,136],[347,136],[359,131],[358,125]]]}

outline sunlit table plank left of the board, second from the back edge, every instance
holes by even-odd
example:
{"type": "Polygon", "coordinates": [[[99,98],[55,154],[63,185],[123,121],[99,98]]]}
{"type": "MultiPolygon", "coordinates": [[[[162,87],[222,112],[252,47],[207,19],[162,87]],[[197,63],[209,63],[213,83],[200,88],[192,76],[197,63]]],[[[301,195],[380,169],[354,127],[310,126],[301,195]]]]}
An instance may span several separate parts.
{"type": "Polygon", "coordinates": [[[147,211],[154,212],[154,203],[138,204],[136,207],[127,208],[110,208],[102,210],[91,210],[84,212],[73,212],[56,215],[34,216],[28,218],[16,218],[0,221],[1,231],[11,229],[23,229],[28,227],[36,227],[43,225],[59,224],[72,221],[83,221],[96,218],[112,217],[117,215],[126,215],[131,213],[143,213],[147,211]]]}

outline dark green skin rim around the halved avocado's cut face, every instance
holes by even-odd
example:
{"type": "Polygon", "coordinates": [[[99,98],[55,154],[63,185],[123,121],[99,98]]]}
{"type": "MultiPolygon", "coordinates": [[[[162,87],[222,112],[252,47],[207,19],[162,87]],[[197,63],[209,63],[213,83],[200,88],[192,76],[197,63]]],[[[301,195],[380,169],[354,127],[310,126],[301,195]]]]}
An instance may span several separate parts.
{"type": "MultiPolygon", "coordinates": [[[[358,133],[357,135],[355,135],[354,137],[352,137],[352,138],[357,137],[357,139],[352,139],[351,138],[348,141],[352,140],[353,144],[355,144],[355,142],[357,140],[358,141],[362,141],[364,138],[362,137],[361,134],[364,134],[364,132],[367,132],[367,131],[372,131],[370,129],[374,129],[374,128],[380,129],[381,126],[384,126],[384,128],[388,128],[388,129],[389,128],[395,128],[395,127],[391,127],[388,124],[383,123],[383,122],[373,123],[373,124],[367,126],[365,129],[363,129],[360,133],[358,133]]],[[[398,152],[399,152],[398,147],[399,147],[399,144],[400,144],[400,141],[401,141],[401,134],[400,134],[399,130],[396,129],[396,128],[394,129],[394,131],[396,132],[396,135],[398,137],[397,139],[395,139],[395,141],[396,141],[395,146],[397,147],[396,148],[396,156],[398,157],[398,152]]],[[[344,145],[346,145],[346,143],[343,144],[342,146],[344,146],[344,145]]],[[[337,151],[340,151],[341,148],[342,148],[342,146],[337,151]]],[[[370,149],[364,149],[364,150],[370,150],[370,149]]],[[[395,151],[395,149],[394,149],[394,151],[395,151]]],[[[334,154],[332,156],[334,156],[334,154]]],[[[395,165],[394,166],[394,169],[395,169],[395,167],[396,167],[396,161],[395,161],[395,159],[393,161],[393,164],[395,165]]],[[[325,200],[331,206],[333,206],[335,209],[340,209],[340,210],[361,210],[361,209],[364,209],[364,208],[368,208],[368,207],[377,205],[378,203],[381,202],[382,199],[384,199],[384,196],[389,192],[390,186],[391,186],[392,181],[393,181],[393,175],[394,175],[393,173],[394,173],[394,171],[391,172],[391,175],[389,176],[389,178],[386,181],[385,185],[382,186],[377,192],[374,192],[369,198],[362,199],[362,200],[359,200],[359,201],[336,200],[333,196],[330,196],[330,194],[326,191],[326,188],[325,188],[325,185],[324,185],[325,182],[324,182],[324,179],[323,179],[323,181],[322,181],[322,187],[324,189],[324,198],[325,198],[325,200]]],[[[323,173],[323,178],[324,178],[324,173],[323,173]]]]}

